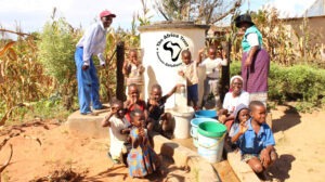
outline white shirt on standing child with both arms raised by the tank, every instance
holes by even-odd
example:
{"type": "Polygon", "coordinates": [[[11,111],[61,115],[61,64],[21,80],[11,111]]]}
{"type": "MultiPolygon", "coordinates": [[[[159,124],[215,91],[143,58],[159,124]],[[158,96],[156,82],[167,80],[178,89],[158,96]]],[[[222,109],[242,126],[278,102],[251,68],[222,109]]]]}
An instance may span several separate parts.
{"type": "Polygon", "coordinates": [[[226,65],[226,60],[225,58],[220,58],[217,57],[214,60],[211,60],[207,57],[200,64],[199,67],[205,66],[206,67],[206,75],[210,78],[219,78],[219,67],[220,66],[225,66],[226,65]]]}

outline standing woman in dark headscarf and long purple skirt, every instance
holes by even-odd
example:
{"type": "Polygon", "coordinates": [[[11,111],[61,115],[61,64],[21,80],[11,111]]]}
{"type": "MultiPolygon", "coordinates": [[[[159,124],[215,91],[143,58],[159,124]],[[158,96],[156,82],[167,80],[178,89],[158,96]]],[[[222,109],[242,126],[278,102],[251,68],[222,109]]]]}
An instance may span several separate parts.
{"type": "Polygon", "coordinates": [[[261,101],[266,106],[270,55],[262,48],[262,34],[248,14],[237,16],[235,25],[245,32],[242,40],[243,88],[249,93],[249,101],[261,101]]]}

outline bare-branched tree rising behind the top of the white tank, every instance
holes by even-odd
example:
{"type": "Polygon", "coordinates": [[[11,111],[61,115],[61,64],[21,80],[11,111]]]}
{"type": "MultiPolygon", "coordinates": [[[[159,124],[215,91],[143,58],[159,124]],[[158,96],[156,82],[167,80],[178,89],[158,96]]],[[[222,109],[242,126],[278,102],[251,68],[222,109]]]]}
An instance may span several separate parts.
{"type": "Polygon", "coordinates": [[[193,21],[214,24],[234,13],[242,0],[156,0],[154,8],[166,21],[193,21]]]}

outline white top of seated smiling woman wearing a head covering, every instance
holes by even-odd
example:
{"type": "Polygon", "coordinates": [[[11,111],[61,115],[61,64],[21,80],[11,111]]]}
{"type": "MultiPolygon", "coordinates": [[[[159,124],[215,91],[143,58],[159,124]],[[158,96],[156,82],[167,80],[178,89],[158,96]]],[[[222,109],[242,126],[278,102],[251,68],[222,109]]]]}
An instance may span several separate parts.
{"type": "Polygon", "coordinates": [[[236,106],[239,104],[245,104],[248,106],[249,104],[249,93],[246,91],[242,91],[239,96],[234,98],[232,92],[227,92],[223,100],[222,107],[227,109],[230,114],[234,113],[236,106]]]}

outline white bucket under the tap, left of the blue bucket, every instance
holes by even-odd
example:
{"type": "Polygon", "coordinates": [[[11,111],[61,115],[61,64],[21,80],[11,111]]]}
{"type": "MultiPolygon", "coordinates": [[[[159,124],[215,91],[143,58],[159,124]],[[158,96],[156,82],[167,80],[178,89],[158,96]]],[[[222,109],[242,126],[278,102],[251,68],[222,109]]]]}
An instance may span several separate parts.
{"type": "Polygon", "coordinates": [[[188,139],[190,121],[194,117],[194,109],[192,107],[173,107],[171,114],[174,117],[174,138],[188,139]]]}

